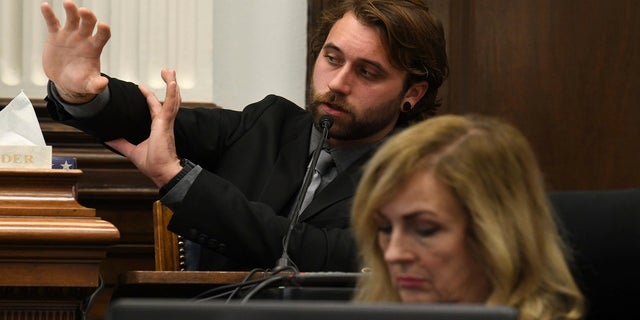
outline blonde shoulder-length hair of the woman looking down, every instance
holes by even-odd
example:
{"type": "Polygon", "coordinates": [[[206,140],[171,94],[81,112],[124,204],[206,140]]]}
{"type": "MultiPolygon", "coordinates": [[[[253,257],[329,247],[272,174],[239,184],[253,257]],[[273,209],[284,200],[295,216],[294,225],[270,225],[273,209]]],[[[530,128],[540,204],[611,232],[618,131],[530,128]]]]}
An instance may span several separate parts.
{"type": "Polygon", "coordinates": [[[361,263],[358,301],[400,301],[374,215],[417,171],[432,170],[468,213],[468,241],[492,291],[520,319],[578,319],[584,298],[568,267],[537,160],[525,137],[494,117],[444,115],[390,138],[369,161],[353,203],[361,263]]]}

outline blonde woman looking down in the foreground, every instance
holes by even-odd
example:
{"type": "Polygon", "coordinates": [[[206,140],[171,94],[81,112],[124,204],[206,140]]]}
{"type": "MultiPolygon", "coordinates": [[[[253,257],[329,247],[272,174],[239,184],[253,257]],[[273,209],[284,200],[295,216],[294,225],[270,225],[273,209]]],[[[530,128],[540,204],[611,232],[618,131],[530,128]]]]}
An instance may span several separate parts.
{"type": "Polygon", "coordinates": [[[352,219],[371,270],[357,301],[583,315],[536,158],[502,120],[439,116],[392,137],[366,166],[352,219]]]}

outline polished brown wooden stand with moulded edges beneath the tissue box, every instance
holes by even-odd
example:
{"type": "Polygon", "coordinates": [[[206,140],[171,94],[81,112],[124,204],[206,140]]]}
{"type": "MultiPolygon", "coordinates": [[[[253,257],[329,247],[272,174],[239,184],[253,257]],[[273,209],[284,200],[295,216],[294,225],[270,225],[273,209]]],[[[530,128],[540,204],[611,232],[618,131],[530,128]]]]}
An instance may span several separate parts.
{"type": "Polygon", "coordinates": [[[120,234],[77,202],[81,170],[0,169],[0,319],[82,319],[120,234]]]}

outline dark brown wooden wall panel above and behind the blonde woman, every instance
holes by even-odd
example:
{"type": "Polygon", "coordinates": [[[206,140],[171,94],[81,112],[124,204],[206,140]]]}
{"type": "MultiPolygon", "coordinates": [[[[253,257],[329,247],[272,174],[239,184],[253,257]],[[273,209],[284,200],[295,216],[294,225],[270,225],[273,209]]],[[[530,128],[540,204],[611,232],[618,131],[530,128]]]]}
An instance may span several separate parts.
{"type": "Polygon", "coordinates": [[[499,115],[551,189],[640,185],[640,2],[452,0],[447,113],[499,115]]]}

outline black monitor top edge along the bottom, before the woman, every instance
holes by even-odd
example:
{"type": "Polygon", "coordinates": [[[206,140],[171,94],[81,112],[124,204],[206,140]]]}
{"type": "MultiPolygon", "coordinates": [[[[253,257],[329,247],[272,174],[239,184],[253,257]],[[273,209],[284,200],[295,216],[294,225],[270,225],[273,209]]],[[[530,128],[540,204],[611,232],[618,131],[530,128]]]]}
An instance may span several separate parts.
{"type": "Polygon", "coordinates": [[[255,300],[121,298],[112,302],[107,320],[517,320],[506,306],[467,304],[362,304],[255,300]]]}

